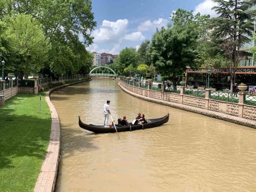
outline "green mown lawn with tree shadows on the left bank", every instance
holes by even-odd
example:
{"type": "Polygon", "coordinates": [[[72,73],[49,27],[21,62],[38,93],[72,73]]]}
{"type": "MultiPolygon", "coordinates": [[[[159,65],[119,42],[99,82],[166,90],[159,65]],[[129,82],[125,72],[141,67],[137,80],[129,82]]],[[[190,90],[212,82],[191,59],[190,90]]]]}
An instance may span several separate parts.
{"type": "Polygon", "coordinates": [[[0,191],[33,191],[51,132],[51,112],[41,93],[19,93],[0,107],[0,191]]]}

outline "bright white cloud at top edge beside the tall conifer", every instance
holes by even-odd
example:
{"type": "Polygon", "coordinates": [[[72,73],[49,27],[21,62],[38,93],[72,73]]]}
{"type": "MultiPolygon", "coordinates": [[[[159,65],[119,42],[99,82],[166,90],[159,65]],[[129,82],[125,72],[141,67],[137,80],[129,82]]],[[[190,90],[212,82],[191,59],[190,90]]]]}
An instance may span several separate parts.
{"type": "Polygon", "coordinates": [[[211,17],[216,17],[217,14],[214,10],[211,10],[212,7],[217,6],[217,3],[214,3],[212,0],[205,0],[202,3],[199,3],[197,6],[195,6],[194,14],[197,14],[198,12],[201,13],[201,15],[209,14],[211,17]]]}

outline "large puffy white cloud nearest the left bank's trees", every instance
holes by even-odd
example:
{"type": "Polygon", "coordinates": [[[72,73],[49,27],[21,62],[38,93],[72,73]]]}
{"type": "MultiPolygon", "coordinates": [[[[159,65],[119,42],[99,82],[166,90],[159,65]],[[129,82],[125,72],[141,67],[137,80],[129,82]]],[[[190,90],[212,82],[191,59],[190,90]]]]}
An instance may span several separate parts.
{"type": "Polygon", "coordinates": [[[127,19],[118,19],[116,22],[104,20],[100,28],[92,32],[94,42],[119,43],[127,33],[127,26],[127,19]]]}

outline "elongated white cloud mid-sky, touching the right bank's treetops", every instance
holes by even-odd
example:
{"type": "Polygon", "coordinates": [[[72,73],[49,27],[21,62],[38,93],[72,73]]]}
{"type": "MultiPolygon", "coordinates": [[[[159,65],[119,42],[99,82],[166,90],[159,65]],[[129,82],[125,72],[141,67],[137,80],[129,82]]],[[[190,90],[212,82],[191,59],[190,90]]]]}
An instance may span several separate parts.
{"type": "Polygon", "coordinates": [[[141,23],[137,29],[139,31],[150,31],[150,30],[156,30],[156,27],[158,29],[162,28],[163,26],[166,27],[168,23],[167,19],[164,18],[158,18],[158,20],[154,20],[151,22],[150,20],[146,20],[143,23],[141,23]]]}

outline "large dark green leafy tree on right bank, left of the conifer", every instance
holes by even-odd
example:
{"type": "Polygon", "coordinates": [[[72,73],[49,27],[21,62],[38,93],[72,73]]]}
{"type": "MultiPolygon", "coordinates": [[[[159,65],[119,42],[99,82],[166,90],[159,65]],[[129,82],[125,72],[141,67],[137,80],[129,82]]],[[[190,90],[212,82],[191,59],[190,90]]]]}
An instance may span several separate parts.
{"type": "Polygon", "coordinates": [[[149,53],[158,71],[163,74],[173,73],[176,79],[176,73],[185,71],[186,66],[194,66],[198,36],[192,12],[178,9],[172,21],[172,28],[162,28],[152,36],[149,53]]]}

